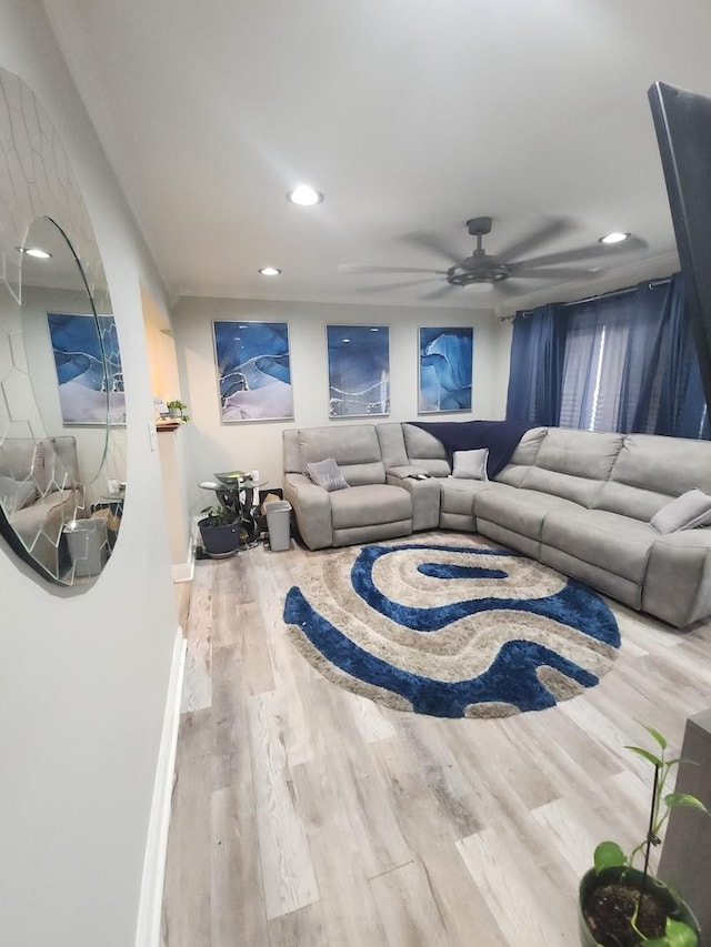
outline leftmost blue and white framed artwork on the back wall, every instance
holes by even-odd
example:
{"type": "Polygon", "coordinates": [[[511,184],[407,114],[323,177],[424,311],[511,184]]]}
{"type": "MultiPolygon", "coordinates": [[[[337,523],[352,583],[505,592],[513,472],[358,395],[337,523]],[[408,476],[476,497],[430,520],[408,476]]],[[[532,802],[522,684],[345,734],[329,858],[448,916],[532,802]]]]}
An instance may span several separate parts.
{"type": "Polygon", "coordinates": [[[293,419],[288,323],[216,321],[212,328],[221,420],[293,419]]]}

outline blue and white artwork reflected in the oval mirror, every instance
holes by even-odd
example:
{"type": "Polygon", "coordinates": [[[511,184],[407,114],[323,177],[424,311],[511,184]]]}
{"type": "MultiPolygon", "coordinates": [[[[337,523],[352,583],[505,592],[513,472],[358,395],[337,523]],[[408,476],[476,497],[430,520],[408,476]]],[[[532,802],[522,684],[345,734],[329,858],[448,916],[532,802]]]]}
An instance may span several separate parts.
{"type": "Polygon", "coordinates": [[[48,312],[62,422],[126,424],[121,352],[112,315],[48,312]]]}

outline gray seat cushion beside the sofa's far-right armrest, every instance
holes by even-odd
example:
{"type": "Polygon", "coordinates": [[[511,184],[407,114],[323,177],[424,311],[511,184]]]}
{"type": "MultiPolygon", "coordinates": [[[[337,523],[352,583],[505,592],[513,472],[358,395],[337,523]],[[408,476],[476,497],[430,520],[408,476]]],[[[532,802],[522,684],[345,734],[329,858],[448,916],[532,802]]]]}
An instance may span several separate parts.
{"type": "Polygon", "coordinates": [[[582,562],[641,585],[659,533],[649,523],[619,513],[581,508],[573,513],[548,513],[541,540],[582,562]]]}

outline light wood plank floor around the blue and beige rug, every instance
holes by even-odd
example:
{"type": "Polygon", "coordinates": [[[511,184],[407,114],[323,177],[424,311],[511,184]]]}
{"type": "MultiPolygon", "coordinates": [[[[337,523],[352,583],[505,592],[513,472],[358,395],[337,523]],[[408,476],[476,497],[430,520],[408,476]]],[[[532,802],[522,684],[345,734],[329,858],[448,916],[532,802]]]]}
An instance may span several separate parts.
{"type": "Polygon", "coordinates": [[[583,696],[507,719],[399,713],[290,644],[284,594],[318,555],[196,564],[163,945],[577,944],[594,846],[647,830],[650,774],[623,745],[642,721],[681,746],[711,704],[711,624],[613,605],[623,644],[583,696]]]}

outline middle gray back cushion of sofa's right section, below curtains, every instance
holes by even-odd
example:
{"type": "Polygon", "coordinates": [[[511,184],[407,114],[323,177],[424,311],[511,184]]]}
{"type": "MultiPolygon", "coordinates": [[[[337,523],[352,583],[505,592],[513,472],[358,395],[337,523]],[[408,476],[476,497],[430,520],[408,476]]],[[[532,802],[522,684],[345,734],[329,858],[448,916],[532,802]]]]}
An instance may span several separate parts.
{"type": "Polygon", "coordinates": [[[595,506],[623,441],[623,434],[549,427],[521,486],[595,506]]]}

